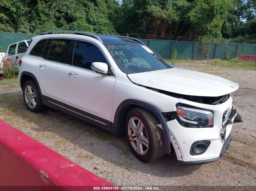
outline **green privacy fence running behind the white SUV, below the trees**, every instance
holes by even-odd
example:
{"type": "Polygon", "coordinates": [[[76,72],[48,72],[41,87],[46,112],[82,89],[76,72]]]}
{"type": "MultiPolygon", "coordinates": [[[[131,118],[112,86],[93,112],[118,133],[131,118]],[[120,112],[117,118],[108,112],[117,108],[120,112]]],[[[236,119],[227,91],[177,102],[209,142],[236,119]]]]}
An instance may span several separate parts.
{"type": "MultiPolygon", "coordinates": [[[[6,52],[8,45],[27,40],[36,35],[0,32],[0,49],[6,52]]],[[[222,59],[228,60],[239,54],[256,56],[256,44],[202,43],[173,40],[140,39],[163,59],[222,59]]]]}

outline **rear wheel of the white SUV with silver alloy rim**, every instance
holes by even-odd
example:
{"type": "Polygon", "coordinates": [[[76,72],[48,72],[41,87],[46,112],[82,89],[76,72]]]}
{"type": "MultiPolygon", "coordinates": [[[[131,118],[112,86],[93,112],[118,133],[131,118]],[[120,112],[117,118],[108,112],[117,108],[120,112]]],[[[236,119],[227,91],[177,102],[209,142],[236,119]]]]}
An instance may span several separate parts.
{"type": "Polygon", "coordinates": [[[30,111],[38,113],[45,109],[34,80],[25,81],[22,92],[25,105],[30,111]]]}

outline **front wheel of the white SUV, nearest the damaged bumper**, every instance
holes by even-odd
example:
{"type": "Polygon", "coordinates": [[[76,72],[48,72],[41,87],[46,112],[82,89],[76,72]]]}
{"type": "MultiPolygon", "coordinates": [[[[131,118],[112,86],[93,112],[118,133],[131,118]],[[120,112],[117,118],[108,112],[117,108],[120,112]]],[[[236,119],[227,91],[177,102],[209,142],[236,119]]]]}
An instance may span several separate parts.
{"type": "Polygon", "coordinates": [[[165,155],[164,135],[157,117],[141,107],[130,110],[125,119],[125,133],[133,154],[149,163],[165,155]]]}

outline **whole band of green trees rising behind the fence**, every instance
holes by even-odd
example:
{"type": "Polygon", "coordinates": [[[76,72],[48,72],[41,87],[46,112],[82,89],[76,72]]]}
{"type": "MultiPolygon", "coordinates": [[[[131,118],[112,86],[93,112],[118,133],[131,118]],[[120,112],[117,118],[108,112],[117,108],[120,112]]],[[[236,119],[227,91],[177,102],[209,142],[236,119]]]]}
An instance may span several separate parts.
{"type": "MultiPolygon", "coordinates": [[[[1,0],[0,31],[255,38],[255,0],[1,0]]],[[[207,40],[206,40],[207,39],[207,40]]]]}

